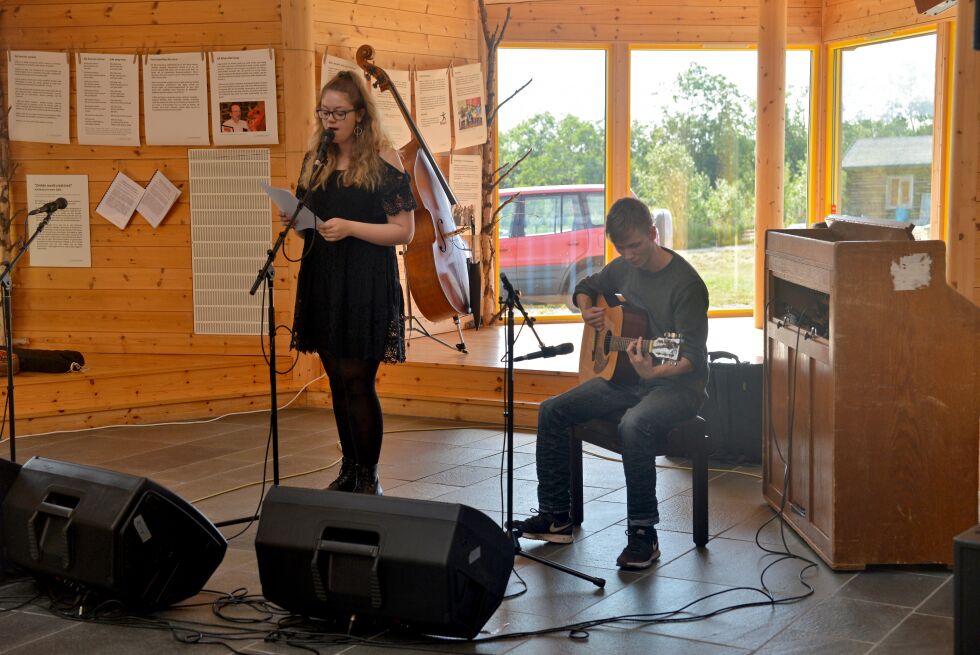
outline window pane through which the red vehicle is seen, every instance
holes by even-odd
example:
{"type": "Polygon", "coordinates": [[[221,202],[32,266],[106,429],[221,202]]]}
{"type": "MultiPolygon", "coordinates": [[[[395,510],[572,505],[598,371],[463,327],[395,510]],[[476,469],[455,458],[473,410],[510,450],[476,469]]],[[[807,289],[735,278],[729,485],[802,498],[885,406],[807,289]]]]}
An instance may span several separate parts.
{"type": "Polygon", "coordinates": [[[523,202],[504,210],[497,263],[529,314],[567,316],[578,311],[575,284],[605,258],[606,51],[501,48],[498,56],[499,161],[530,154],[501,184],[501,202],[518,192],[523,202]]]}

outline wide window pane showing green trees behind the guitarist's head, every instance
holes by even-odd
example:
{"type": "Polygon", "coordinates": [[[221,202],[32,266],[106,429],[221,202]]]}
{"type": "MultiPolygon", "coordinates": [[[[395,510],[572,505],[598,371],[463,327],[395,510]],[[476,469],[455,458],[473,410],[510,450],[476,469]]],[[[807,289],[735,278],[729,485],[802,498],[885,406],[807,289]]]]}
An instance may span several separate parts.
{"type": "Polygon", "coordinates": [[[669,218],[662,244],[698,270],[712,309],[752,306],[756,62],[745,50],[630,55],[630,186],[669,218]]]}

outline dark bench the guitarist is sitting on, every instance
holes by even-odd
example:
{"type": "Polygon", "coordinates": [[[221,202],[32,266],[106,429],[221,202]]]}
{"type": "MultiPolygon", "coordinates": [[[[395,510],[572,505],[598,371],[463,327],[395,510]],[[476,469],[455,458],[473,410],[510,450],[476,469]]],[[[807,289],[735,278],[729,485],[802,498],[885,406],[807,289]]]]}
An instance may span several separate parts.
{"type": "MultiPolygon", "coordinates": [[[[571,464],[572,521],[581,525],[582,509],[582,443],[591,443],[622,454],[619,443],[618,419],[599,418],[587,421],[572,430],[569,450],[571,464]]],[[[675,423],[669,430],[657,436],[657,454],[669,457],[688,457],[692,468],[692,496],[694,497],[694,544],[703,548],[708,543],[708,453],[711,439],[705,429],[704,419],[695,416],[675,423]]]]}

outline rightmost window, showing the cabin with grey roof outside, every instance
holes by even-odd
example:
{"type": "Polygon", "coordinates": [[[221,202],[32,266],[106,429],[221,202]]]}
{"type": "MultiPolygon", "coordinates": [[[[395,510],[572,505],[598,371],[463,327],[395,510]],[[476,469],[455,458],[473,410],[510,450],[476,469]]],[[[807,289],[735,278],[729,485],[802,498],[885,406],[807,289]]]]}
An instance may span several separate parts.
{"type": "Polygon", "coordinates": [[[928,238],[936,35],[840,48],[836,54],[837,212],[910,222],[916,238],[928,238]]]}

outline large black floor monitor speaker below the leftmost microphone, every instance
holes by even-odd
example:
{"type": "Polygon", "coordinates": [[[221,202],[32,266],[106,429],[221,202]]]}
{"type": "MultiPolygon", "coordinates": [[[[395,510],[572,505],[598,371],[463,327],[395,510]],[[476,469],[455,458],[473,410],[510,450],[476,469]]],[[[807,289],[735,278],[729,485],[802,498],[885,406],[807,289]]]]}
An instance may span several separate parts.
{"type": "Polygon", "coordinates": [[[139,609],[193,596],[228,543],[197,509],[146,478],[33,457],[3,501],[9,559],[139,609]]]}

